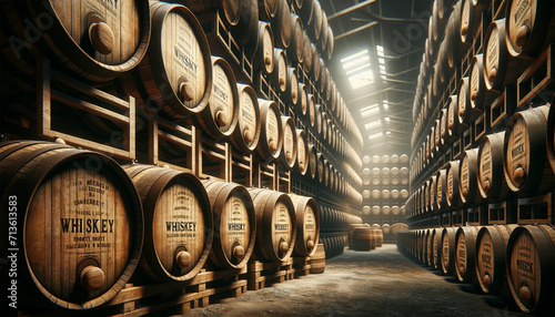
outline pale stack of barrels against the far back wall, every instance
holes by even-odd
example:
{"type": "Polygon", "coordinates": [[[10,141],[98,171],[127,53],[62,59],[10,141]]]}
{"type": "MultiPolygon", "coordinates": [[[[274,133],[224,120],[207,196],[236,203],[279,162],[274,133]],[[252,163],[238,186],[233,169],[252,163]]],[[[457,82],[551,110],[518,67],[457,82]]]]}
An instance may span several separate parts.
{"type": "Polygon", "coordinates": [[[394,242],[385,227],[405,219],[405,202],[408,198],[408,155],[365,155],[362,161],[363,219],[384,227],[384,239],[394,242]]]}

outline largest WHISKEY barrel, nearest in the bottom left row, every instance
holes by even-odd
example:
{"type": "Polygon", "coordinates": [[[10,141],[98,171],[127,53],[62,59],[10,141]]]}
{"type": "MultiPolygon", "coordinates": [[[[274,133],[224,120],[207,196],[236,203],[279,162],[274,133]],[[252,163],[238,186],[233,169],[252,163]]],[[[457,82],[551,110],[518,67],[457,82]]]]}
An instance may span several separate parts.
{"type": "Polygon", "coordinates": [[[18,224],[10,236],[21,248],[20,301],[90,309],[113,298],[143,242],[141,201],[120,165],[91,151],[14,141],[0,143],[0,176],[2,229],[8,233],[9,218],[18,224]]]}

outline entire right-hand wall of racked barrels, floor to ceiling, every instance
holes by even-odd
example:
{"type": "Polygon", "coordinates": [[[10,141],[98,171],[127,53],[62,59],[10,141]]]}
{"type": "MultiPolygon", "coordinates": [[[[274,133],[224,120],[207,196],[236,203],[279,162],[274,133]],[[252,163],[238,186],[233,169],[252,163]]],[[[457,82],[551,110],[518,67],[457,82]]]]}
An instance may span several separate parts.
{"type": "Polygon", "coordinates": [[[535,79],[553,60],[555,7],[433,9],[413,108],[413,229],[400,248],[523,311],[553,311],[544,265],[555,254],[555,111],[553,91],[535,79]]]}

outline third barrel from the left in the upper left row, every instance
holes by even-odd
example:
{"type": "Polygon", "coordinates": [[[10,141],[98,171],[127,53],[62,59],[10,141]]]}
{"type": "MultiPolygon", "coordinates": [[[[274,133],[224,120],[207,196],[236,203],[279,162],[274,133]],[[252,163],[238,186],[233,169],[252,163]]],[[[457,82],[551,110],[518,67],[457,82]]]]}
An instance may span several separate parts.
{"type": "Polygon", "coordinates": [[[195,115],[202,131],[213,139],[230,136],[239,122],[239,91],[230,64],[212,57],[212,93],[206,108],[195,115]]]}

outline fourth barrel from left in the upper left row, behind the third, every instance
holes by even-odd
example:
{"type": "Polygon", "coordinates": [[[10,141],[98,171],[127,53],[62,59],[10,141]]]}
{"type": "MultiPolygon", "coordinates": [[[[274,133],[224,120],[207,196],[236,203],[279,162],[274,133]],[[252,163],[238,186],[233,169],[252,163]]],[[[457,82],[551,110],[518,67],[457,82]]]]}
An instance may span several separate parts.
{"type": "Polygon", "coordinates": [[[242,153],[251,153],[259,145],[261,116],[259,100],[252,86],[238,84],[239,122],[231,135],[231,143],[242,153]]]}

